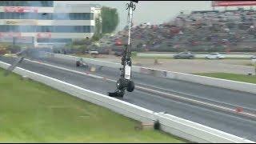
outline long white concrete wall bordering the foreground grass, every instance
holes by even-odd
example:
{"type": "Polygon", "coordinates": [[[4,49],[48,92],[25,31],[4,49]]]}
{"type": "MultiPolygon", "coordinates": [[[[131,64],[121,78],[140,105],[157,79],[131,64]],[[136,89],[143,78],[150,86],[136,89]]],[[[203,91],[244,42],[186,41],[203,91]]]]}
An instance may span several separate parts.
{"type": "MultiPolygon", "coordinates": [[[[0,62],[0,67],[7,69],[9,64],[0,62]]],[[[134,118],[140,122],[160,122],[160,129],[170,134],[177,135],[181,138],[186,138],[191,142],[238,142],[238,143],[254,143],[245,138],[227,134],[220,130],[215,130],[208,126],[190,122],[188,120],[175,117],[170,114],[154,113],[154,111],[146,110],[140,106],[135,106],[128,102],[123,102],[116,98],[110,98],[104,94],[98,94],[91,90],[83,89],[79,86],[74,86],[67,82],[62,82],[55,78],[50,78],[42,74],[34,73],[30,70],[24,70],[16,67],[14,73],[27,76],[37,82],[42,82],[47,86],[54,87],[57,90],[71,94],[77,98],[92,102],[99,106],[104,106],[118,114],[125,115],[129,118],[134,118]]]]}

